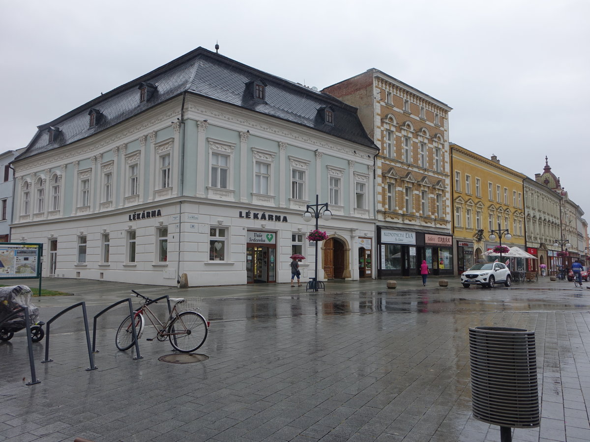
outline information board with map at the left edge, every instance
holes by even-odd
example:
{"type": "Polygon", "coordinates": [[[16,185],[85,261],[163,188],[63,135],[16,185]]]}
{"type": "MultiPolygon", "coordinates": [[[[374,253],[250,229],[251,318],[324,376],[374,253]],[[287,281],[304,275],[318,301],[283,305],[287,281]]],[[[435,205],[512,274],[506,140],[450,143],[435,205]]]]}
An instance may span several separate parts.
{"type": "Polygon", "coordinates": [[[0,279],[40,278],[43,245],[0,243],[0,279]]]}

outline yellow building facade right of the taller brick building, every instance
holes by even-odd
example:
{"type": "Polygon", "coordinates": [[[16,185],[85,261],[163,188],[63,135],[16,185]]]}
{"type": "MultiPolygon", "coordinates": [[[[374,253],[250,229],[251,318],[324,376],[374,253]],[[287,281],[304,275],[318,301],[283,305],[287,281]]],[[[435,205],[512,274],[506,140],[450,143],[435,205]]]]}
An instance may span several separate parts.
{"type": "MultiPolygon", "coordinates": [[[[501,245],[526,250],[526,176],[503,166],[496,156],[486,158],[454,143],[450,153],[453,255],[458,274],[480,259],[489,260],[484,253],[500,245],[498,230],[501,245]],[[496,240],[489,239],[492,230],[496,240]],[[507,233],[512,238],[506,239],[507,233]]],[[[514,259],[510,268],[525,270],[525,260],[514,259]]]]}

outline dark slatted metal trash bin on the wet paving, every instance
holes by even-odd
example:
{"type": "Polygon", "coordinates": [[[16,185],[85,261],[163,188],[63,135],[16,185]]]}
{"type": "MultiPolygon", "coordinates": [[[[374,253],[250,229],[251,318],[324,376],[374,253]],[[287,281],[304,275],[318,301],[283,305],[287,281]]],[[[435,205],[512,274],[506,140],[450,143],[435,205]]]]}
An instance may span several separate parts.
{"type": "MultiPolygon", "coordinates": [[[[470,327],[473,417],[510,428],[539,427],[535,332],[509,327],[470,327]]],[[[507,437],[507,438],[506,438],[507,437]]]]}

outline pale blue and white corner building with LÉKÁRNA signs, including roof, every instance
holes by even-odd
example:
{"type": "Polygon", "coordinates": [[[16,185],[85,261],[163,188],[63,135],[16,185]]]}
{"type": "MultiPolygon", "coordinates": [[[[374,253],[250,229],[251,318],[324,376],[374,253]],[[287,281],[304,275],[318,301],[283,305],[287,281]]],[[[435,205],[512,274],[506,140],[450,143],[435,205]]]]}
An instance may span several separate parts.
{"type": "Polygon", "coordinates": [[[356,108],[198,48],[40,126],[14,161],[12,240],[44,275],[176,286],[358,279],[373,158],[356,108]]]}

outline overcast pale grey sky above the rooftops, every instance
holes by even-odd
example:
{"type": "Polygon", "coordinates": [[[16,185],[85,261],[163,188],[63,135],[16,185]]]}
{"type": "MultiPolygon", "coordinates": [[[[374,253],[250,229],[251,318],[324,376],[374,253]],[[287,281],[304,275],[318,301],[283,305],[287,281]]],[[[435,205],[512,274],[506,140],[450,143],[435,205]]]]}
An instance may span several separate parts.
{"type": "Polygon", "coordinates": [[[533,179],[548,156],[590,221],[588,17],[588,0],[0,0],[0,151],[219,41],[227,57],[320,89],[384,71],[453,107],[453,143],[533,179]]]}

